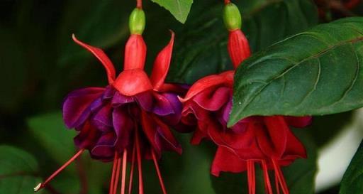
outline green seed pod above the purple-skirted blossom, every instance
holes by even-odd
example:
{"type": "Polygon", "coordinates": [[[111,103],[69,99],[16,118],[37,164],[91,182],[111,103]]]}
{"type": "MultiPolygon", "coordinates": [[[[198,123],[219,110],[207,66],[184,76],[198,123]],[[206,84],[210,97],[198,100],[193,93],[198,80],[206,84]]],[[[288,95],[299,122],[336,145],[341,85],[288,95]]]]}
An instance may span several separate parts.
{"type": "Polygon", "coordinates": [[[128,19],[131,34],[143,34],[145,29],[145,12],[143,9],[135,8],[128,19]]]}

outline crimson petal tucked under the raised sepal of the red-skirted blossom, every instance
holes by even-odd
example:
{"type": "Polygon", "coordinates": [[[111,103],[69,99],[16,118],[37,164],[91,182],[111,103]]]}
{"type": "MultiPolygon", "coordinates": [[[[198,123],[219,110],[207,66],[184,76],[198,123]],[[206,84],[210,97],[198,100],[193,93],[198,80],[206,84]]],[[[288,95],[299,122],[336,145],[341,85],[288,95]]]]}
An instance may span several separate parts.
{"type": "Polygon", "coordinates": [[[230,87],[218,87],[217,89],[211,87],[200,92],[193,100],[198,103],[199,106],[203,107],[203,109],[216,111],[230,100],[231,95],[232,90],[230,87]]]}

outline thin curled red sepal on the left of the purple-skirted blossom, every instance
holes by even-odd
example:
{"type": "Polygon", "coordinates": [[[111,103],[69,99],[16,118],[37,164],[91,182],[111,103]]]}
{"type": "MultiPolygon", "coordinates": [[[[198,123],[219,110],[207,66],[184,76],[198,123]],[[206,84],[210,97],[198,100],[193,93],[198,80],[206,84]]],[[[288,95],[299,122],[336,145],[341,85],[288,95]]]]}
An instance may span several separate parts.
{"type": "Polygon", "coordinates": [[[83,48],[86,48],[86,50],[89,50],[96,58],[99,59],[99,61],[104,65],[104,68],[106,69],[108,83],[111,85],[112,82],[115,80],[116,77],[116,71],[115,68],[111,62],[111,60],[107,57],[107,55],[104,53],[103,50],[100,48],[96,48],[91,45],[87,45],[86,43],[82,43],[81,41],[77,40],[76,36],[74,34],[72,35],[73,41],[77,44],[81,45],[83,48]]]}

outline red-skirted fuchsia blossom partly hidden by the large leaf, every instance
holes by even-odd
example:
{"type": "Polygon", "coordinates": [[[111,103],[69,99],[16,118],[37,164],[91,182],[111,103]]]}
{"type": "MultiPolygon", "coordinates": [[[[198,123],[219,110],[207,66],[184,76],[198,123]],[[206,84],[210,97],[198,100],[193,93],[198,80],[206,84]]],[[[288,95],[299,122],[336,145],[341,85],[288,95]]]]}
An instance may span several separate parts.
{"type": "MultiPolygon", "coordinates": [[[[240,30],[238,7],[225,1],[224,21],[229,31],[228,53],[234,68],[250,56],[247,38],[240,30]]],[[[233,76],[235,70],[209,75],[194,83],[181,102],[184,103],[181,122],[196,125],[191,144],[202,139],[213,141],[218,149],[211,173],[247,171],[248,190],[255,194],[255,164],[262,166],[266,193],[272,194],[269,170],[274,171],[277,193],[284,194],[286,186],[281,166],[288,166],[296,158],[306,158],[306,150],[289,126],[303,127],[311,117],[247,117],[227,127],[232,107],[233,76]]]]}

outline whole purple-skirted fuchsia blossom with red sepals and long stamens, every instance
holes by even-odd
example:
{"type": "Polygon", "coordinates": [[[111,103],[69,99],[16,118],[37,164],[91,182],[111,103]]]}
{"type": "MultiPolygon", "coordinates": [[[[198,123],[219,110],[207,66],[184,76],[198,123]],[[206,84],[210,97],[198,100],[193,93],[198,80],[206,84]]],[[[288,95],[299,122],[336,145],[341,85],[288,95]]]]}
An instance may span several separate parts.
{"type": "Polygon", "coordinates": [[[131,36],[125,45],[123,72],[118,77],[111,60],[101,49],[73,36],[77,44],[89,50],[104,65],[108,86],[86,87],[67,95],[63,119],[68,128],[79,132],[74,143],[80,150],[45,182],[37,185],[35,191],[44,188],[84,150],[88,150],[91,158],[113,161],[109,194],[117,193],[120,172],[121,193],[125,193],[127,161],[131,163],[128,193],[132,190],[135,164],[138,166],[138,190],[140,194],[144,193],[143,159],[154,161],[162,192],[167,193],[157,161],[162,151],[181,153],[181,146],[169,126],[179,128],[182,104],[177,96],[186,90],[180,85],[164,83],[172,57],[173,32],[168,45],[157,55],[152,75],[147,77],[143,70],[146,45],[141,35],[144,28],[145,14],[141,1],[138,1],[138,7],[130,15],[131,36]]]}

